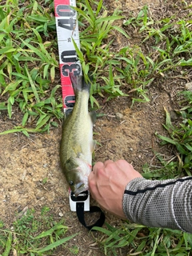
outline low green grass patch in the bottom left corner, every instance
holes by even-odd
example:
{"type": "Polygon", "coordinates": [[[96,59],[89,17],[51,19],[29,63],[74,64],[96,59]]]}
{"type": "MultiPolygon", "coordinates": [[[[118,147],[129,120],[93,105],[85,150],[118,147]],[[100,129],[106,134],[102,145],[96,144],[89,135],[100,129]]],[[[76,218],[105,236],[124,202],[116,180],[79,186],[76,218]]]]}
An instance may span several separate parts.
{"type": "Polygon", "coordinates": [[[34,210],[27,210],[26,214],[16,216],[10,229],[6,229],[1,221],[0,255],[9,256],[11,252],[18,256],[50,255],[58,246],[75,254],[77,248],[67,247],[66,242],[77,234],[66,236],[68,227],[64,221],[55,222],[49,211],[48,207],[43,207],[37,216],[34,210]]]}

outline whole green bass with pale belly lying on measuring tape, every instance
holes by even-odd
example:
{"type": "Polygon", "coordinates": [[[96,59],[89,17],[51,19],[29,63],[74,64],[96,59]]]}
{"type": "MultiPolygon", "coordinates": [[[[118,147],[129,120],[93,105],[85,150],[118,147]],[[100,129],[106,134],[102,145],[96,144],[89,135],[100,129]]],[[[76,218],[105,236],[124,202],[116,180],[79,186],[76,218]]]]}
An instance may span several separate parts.
{"type": "Polygon", "coordinates": [[[62,125],[62,140],[59,156],[62,172],[75,197],[89,189],[88,176],[91,172],[92,153],[95,142],[93,126],[95,112],[88,110],[90,83],[82,75],[70,74],[74,88],[75,103],[70,112],[66,112],[62,125]]]}

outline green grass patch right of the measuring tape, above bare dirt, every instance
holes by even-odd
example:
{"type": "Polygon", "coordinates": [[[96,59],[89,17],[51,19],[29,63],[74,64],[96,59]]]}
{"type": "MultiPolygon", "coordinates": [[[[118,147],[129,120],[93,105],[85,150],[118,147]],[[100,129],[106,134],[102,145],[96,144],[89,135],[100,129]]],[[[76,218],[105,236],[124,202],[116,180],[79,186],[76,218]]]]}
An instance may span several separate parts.
{"type": "MultiPolygon", "coordinates": [[[[82,53],[78,55],[84,74],[88,71],[94,74],[92,94],[103,96],[106,93],[110,99],[126,95],[124,91],[134,90],[137,98],[132,98],[133,103],[149,102],[147,87],[152,82],[166,77],[172,70],[179,72],[181,67],[185,66],[187,70],[192,65],[191,14],[183,20],[173,15],[156,21],[149,17],[148,7],[144,6],[137,17],[126,18],[122,14],[119,17],[123,20],[120,30],[119,26],[112,23],[118,10],[106,18],[106,10],[102,10],[102,15],[99,14],[98,17],[97,10],[101,7],[99,3],[94,13],[83,4],[81,6],[84,12],[78,12],[79,20],[83,26],[88,24],[80,34],[82,53]],[[111,24],[106,25],[108,20],[111,24]],[[103,27],[107,34],[100,34],[103,27]],[[117,34],[125,43],[114,51],[113,42],[117,34]],[[138,42],[129,46],[126,41],[131,42],[129,38],[133,38],[135,34],[139,38],[138,42]],[[150,46],[150,51],[146,51],[146,45],[150,46]]],[[[90,99],[93,106],[95,99],[90,99]]]]}

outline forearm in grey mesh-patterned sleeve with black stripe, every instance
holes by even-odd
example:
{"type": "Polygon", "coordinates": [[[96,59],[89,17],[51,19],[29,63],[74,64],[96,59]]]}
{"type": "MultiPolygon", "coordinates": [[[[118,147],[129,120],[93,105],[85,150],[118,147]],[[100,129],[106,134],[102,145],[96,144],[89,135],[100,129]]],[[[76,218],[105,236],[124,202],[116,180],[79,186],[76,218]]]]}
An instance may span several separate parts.
{"type": "Polygon", "coordinates": [[[192,177],[134,178],[126,186],[123,210],[131,222],[192,233],[192,177]]]}

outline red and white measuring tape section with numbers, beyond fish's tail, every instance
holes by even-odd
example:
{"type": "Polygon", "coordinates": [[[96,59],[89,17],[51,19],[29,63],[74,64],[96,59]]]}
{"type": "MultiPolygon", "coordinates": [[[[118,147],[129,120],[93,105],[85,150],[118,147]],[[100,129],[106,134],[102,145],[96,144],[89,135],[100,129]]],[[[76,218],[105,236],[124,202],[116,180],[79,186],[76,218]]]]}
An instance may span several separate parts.
{"type": "Polygon", "coordinates": [[[75,0],[54,1],[64,111],[74,106],[74,90],[69,73],[82,74],[81,63],[72,42],[73,38],[80,48],[77,13],[70,6],[76,6],[75,0]]]}

